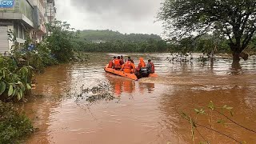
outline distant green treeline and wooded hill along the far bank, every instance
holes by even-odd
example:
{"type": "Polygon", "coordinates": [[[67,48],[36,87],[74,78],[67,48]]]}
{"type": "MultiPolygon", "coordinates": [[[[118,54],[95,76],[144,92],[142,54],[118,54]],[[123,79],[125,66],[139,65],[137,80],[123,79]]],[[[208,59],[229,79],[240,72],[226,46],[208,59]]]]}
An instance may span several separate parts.
{"type": "MultiPolygon", "coordinates": [[[[85,52],[171,52],[231,53],[229,41],[217,33],[199,38],[162,40],[156,34],[121,34],[112,30],[83,30],[74,40],[74,47],[85,52]]],[[[255,53],[256,38],[246,49],[255,53]]]]}

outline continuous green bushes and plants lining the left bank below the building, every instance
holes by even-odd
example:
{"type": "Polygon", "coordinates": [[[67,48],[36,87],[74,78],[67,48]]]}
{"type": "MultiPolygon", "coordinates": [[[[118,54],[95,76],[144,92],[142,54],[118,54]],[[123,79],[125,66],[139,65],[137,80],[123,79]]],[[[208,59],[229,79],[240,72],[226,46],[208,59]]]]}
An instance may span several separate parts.
{"type": "MultiPolygon", "coordinates": [[[[43,72],[46,66],[74,59],[74,38],[78,32],[66,22],[56,21],[48,26],[51,35],[35,44],[28,36],[24,44],[18,44],[15,34],[8,32],[14,42],[12,55],[0,56],[0,143],[18,143],[33,132],[33,126],[25,114],[19,114],[12,104],[19,102],[31,90],[34,72],[43,72]]],[[[82,58],[77,54],[77,58],[82,58]]]]}

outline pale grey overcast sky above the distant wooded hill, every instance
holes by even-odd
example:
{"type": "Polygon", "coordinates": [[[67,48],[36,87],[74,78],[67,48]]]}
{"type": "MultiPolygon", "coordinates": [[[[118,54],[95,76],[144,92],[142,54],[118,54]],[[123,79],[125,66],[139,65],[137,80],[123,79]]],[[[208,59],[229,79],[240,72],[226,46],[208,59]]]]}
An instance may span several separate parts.
{"type": "Polygon", "coordinates": [[[78,30],[162,34],[154,22],[162,0],[55,0],[58,20],[78,30]]]}

